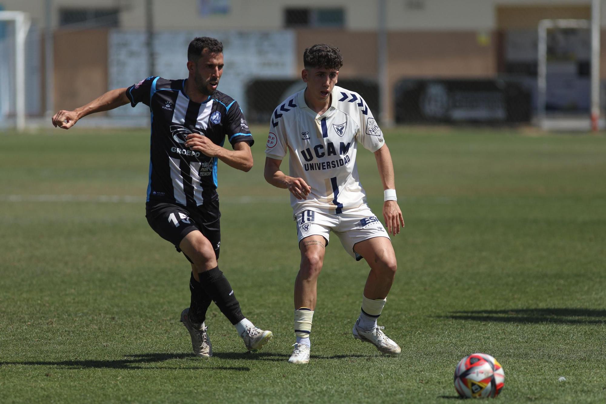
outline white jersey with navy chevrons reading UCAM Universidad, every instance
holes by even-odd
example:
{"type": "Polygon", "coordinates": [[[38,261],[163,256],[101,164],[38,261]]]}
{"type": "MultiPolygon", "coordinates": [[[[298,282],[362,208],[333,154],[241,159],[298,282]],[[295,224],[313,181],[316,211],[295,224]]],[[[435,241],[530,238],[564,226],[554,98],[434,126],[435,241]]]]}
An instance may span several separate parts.
{"type": "Polygon", "coordinates": [[[311,187],[307,200],[290,195],[298,212],[303,208],[340,214],[366,203],[356,167],[358,142],[371,152],[385,143],[383,133],[364,99],[335,86],[322,115],[305,104],[305,90],[289,96],[273,112],[265,155],[282,160],[288,150],[289,175],[311,187]]]}

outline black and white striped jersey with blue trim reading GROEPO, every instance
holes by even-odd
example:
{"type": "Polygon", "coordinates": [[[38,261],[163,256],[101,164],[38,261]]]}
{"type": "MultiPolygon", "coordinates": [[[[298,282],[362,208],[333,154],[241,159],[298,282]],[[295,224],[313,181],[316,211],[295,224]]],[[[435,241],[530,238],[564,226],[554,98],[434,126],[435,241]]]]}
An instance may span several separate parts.
{"type": "Polygon", "coordinates": [[[144,103],[151,111],[147,201],[199,206],[217,198],[217,158],[185,147],[189,133],[201,133],[219,146],[225,136],[232,147],[254,143],[237,101],[215,90],[195,103],[185,94],[185,81],[151,76],[126,91],[131,106],[144,103]]]}

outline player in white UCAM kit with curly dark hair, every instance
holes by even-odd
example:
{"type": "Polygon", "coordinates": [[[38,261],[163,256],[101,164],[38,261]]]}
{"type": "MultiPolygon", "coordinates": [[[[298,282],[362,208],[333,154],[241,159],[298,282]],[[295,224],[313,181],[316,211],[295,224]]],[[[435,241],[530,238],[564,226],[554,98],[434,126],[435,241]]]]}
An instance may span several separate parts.
{"type": "Polygon", "coordinates": [[[336,47],[305,49],[301,76],[307,88],[289,96],[271,116],[265,149],[265,180],[290,191],[297,221],[301,268],[295,280],[295,349],[288,362],[308,363],[316,285],[330,231],[356,260],[370,266],[362,309],[353,337],[385,354],[401,349],[377,325],[396,274],[396,255],[388,235],[404,226],[398,206],[391,155],[364,99],[335,86],[343,64],[336,47]],[[367,205],[356,167],[358,143],[375,154],[384,187],[381,221],[367,205]],[[280,170],[289,153],[289,174],[280,170]]]}

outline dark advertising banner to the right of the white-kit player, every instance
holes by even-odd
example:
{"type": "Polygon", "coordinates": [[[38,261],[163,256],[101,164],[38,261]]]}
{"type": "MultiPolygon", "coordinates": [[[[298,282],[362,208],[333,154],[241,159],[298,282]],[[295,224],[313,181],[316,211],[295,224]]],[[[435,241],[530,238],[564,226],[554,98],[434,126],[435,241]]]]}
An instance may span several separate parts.
{"type": "Polygon", "coordinates": [[[530,121],[530,93],[502,80],[404,79],[395,96],[396,123],[530,121]]]}

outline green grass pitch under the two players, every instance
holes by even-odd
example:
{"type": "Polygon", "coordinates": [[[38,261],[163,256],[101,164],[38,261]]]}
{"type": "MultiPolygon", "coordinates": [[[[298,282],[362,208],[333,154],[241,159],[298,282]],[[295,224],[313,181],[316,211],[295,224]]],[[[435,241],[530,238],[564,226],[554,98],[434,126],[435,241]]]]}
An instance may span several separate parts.
{"type": "MultiPolygon", "coordinates": [[[[293,366],[295,224],[253,129],[253,169],[219,163],[219,265],[275,337],[245,353],[212,305],[208,360],[179,323],[188,263],[144,217],[148,132],[0,136],[0,402],[449,403],[473,352],[501,362],[499,402],[606,402],[603,135],[387,131],[406,227],[380,323],[402,353],[351,337],[368,269],[335,238],[311,362],[293,366]]],[[[358,168],[381,217],[362,148],[358,168]]]]}

